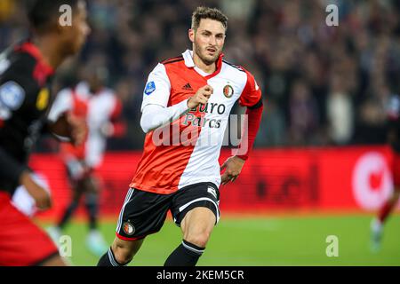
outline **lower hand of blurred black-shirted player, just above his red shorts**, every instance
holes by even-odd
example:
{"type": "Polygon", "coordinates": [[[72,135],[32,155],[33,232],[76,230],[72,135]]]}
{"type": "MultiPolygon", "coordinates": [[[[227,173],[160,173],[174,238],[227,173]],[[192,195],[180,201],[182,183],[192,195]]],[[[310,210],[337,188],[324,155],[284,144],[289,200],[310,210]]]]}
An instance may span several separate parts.
{"type": "Polygon", "coordinates": [[[28,171],[24,171],[20,176],[20,185],[24,185],[27,192],[36,201],[37,209],[45,210],[52,207],[52,199],[44,187],[38,185],[30,176],[28,171]]]}

